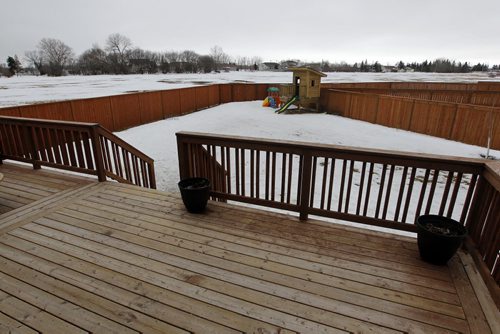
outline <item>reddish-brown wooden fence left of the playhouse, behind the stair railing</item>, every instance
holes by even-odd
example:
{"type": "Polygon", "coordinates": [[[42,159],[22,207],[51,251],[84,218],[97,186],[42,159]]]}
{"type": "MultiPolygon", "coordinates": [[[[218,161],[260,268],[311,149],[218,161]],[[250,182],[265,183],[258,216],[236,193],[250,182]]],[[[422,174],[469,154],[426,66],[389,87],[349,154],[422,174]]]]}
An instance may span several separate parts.
{"type": "Polygon", "coordinates": [[[122,131],[222,103],[260,100],[267,84],[227,84],[0,108],[0,115],[99,123],[122,131]]]}

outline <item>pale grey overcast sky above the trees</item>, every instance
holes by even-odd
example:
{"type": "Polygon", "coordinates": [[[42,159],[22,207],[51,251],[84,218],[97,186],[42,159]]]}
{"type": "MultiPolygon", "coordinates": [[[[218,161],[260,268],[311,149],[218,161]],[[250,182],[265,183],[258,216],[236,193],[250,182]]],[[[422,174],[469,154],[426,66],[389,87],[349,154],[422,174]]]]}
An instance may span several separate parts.
{"type": "Polygon", "coordinates": [[[79,55],[112,33],[151,51],[264,61],[500,64],[500,0],[2,0],[0,62],[56,38],[79,55]]]}

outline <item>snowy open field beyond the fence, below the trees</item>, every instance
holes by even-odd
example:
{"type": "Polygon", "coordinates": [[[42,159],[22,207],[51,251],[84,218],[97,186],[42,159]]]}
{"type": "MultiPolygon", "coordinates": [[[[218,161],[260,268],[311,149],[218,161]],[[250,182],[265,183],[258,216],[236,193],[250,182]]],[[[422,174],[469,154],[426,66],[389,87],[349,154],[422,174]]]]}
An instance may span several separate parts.
{"type": "MultiPolygon", "coordinates": [[[[476,82],[491,80],[487,73],[327,73],[322,82],[439,81],[476,82]]],[[[175,89],[211,83],[288,83],[290,72],[223,72],[208,74],[144,74],[0,77],[0,107],[175,89]]]]}

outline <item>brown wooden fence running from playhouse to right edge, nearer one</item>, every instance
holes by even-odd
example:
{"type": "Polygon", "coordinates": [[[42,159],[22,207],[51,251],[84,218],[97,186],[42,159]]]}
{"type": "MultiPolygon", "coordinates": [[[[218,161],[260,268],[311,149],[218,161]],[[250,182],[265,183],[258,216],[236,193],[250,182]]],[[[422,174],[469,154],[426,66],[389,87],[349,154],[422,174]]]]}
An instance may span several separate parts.
{"type": "Polygon", "coordinates": [[[322,109],[344,117],[500,149],[500,108],[323,90],[322,109]]]}

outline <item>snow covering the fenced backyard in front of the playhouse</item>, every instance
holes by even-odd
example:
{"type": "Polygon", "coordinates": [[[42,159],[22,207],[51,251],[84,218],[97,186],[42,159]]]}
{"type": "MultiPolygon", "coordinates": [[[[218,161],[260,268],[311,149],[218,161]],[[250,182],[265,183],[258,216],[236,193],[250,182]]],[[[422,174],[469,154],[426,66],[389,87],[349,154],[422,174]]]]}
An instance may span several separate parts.
{"type": "MultiPolygon", "coordinates": [[[[261,101],[236,102],[206,109],[193,114],[170,118],[148,125],[139,126],[116,133],[119,137],[140,149],[155,160],[157,187],[160,190],[177,192],[179,181],[177,144],[175,133],[178,131],[205,132],[213,134],[256,137],[261,139],[279,139],[321,144],[354,146],[363,149],[385,149],[403,152],[428,153],[441,156],[459,156],[479,158],[485,149],[441,138],[388,128],[367,122],[356,121],[328,114],[276,114],[271,108],[261,106],[261,101]]],[[[499,156],[500,151],[493,151],[499,156]]],[[[247,164],[250,161],[246,159],[247,164]]],[[[264,160],[262,160],[264,161],[264,160]]],[[[318,161],[318,174],[322,174],[322,162],[318,161]]],[[[340,162],[337,162],[340,164],[340,162]]],[[[298,162],[294,163],[298,166],[298,162]]],[[[277,166],[281,166],[278,161],[277,166]]],[[[338,173],[341,165],[336,166],[338,173]]],[[[354,166],[354,184],[359,185],[361,164],[354,166]]],[[[402,169],[398,168],[394,180],[401,178],[402,169]]],[[[378,182],[382,174],[382,166],[377,165],[374,181],[378,182]]],[[[277,175],[280,175],[279,172],[277,175]]],[[[423,179],[423,172],[417,173],[417,181],[423,179]]],[[[336,176],[340,177],[340,175],[336,176]]],[[[441,198],[444,188],[445,174],[441,173],[436,188],[435,198],[441,198]]],[[[262,178],[263,179],[263,178],[262,178]]],[[[280,182],[277,180],[277,182],[280,182]]],[[[418,182],[417,182],[418,183],[418,182]]],[[[246,186],[249,189],[249,184],[246,186]]],[[[393,185],[393,193],[397,193],[397,185],[393,185]]],[[[416,184],[415,196],[419,194],[419,184],[416,184]]],[[[264,187],[261,187],[264,189],[264,187]]],[[[320,186],[316,186],[315,198],[320,196],[320,186]]],[[[277,189],[280,186],[277,185],[277,189]]],[[[465,198],[467,188],[461,187],[457,199],[455,214],[460,213],[460,207],[465,198]]],[[[353,190],[354,192],[355,190],[353,190]]],[[[378,189],[372,189],[371,198],[376,198],[378,189]]],[[[418,198],[413,197],[413,202],[418,198]]],[[[353,196],[355,200],[357,197],[353,196]]],[[[336,198],[334,197],[334,200],[336,198]]],[[[424,202],[425,203],[425,202],[424,202]]],[[[355,203],[351,207],[355,207],[355,203]]],[[[373,213],[373,205],[369,213],[373,213]]],[[[388,217],[394,214],[395,207],[390,207],[388,217]]],[[[408,221],[413,217],[410,215],[408,221]]]]}

